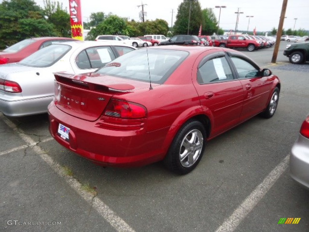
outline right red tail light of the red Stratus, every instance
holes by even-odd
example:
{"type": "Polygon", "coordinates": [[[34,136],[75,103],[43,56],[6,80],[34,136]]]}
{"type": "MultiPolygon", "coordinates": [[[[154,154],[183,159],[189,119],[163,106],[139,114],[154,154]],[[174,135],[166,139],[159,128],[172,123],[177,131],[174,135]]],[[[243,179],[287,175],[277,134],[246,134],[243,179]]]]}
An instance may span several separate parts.
{"type": "Polygon", "coordinates": [[[115,118],[145,118],[147,110],[145,106],[129,102],[112,99],[109,101],[104,115],[115,118]]]}

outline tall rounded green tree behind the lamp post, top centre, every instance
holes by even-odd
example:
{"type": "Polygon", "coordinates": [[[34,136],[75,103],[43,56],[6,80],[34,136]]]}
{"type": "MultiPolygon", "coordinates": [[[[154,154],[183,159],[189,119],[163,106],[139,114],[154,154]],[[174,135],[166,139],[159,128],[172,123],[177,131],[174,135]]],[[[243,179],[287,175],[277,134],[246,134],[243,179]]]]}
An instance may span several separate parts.
{"type": "Polygon", "coordinates": [[[189,34],[197,35],[202,23],[201,4],[198,0],[183,0],[178,6],[176,21],[174,24],[174,34],[187,34],[189,24],[189,34]],[[191,3],[191,14],[189,22],[189,9],[191,3]]]}

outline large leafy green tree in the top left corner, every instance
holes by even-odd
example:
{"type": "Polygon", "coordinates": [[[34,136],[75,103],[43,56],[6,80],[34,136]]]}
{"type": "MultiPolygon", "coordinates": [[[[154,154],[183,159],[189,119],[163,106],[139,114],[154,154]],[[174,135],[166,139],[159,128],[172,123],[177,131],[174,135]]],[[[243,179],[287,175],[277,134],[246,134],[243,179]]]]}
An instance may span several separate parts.
{"type": "Polygon", "coordinates": [[[1,48],[29,37],[52,35],[56,35],[53,25],[46,22],[43,9],[34,1],[10,0],[0,4],[1,48]]]}

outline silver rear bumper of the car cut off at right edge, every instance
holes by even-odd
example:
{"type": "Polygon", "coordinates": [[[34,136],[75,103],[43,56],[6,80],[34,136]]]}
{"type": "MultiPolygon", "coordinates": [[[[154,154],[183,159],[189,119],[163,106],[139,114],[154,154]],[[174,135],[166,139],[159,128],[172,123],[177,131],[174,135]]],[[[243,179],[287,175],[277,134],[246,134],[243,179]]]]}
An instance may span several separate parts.
{"type": "Polygon", "coordinates": [[[290,155],[290,176],[309,189],[309,139],[299,135],[290,155]]]}

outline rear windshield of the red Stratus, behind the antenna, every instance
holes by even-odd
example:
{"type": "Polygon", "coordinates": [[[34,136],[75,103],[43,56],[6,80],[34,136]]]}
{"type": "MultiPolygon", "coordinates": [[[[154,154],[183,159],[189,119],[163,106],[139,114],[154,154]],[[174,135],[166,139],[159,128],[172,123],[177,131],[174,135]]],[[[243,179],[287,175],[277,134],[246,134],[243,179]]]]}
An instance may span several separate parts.
{"type": "Polygon", "coordinates": [[[97,72],[145,82],[151,79],[153,83],[163,84],[188,54],[178,50],[148,49],[147,52],[139,49],[116,58],[97,72]]]}

